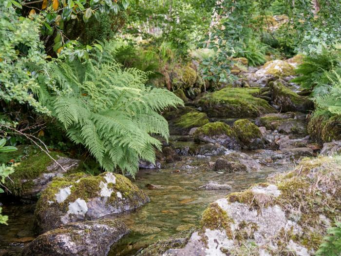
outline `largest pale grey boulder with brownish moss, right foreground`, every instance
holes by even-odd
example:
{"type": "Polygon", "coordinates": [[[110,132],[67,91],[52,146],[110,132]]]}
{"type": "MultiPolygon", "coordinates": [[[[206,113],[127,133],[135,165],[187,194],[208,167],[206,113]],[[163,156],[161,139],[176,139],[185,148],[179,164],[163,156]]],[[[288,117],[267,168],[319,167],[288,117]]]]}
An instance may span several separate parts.
{"type": "Polygon", "coordinates": [[[306,159],[268,183],[215,201],[187,244],[163,255],[314,255],[341,215],[339,161],[306,159]]]}

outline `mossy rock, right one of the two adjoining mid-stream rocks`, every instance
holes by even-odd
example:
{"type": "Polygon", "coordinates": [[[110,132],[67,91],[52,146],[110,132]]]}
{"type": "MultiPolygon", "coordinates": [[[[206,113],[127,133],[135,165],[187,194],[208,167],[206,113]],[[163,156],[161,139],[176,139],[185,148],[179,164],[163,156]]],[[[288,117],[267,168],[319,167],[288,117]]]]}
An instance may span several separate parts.
{"type": "Polygon", "coordinates": [[[233,130],[240,141],[248,145],[252,139],[261,138],[259,128],[247,119],[239,119],[233,123],[233,130]]]}

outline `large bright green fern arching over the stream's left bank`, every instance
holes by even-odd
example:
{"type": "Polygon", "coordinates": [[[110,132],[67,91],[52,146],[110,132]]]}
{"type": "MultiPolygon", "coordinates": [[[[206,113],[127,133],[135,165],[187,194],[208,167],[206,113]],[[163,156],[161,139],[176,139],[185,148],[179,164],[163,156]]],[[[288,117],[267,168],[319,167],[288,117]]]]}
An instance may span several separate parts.
{"type": "Polygon", "coordinates": [[[75,143],[83,144],[107,171],[134,176],[138,160],[155,162],[154,148],[168,139],[161,110],[183,104],[165,89],[148,88],[148,74],[115,62],[115,45],[103,44],[85,63],[51,64],[50,76],[59,90],[46,102],[75,143]]]}

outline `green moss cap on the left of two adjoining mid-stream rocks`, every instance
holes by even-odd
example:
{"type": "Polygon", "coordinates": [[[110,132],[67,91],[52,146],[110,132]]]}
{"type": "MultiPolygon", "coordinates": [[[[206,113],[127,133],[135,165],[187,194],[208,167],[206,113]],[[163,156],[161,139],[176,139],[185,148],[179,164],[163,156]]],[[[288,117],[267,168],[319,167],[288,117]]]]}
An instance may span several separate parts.
{"type": "Polygon", "coordinates": [[[219,136],[227,135],[229,137],[236,137],[235,132],[226,123],[214,122],[207,123],[199,127],[193,134],[194,139],[199,139],[201,136],[219,136]]]}

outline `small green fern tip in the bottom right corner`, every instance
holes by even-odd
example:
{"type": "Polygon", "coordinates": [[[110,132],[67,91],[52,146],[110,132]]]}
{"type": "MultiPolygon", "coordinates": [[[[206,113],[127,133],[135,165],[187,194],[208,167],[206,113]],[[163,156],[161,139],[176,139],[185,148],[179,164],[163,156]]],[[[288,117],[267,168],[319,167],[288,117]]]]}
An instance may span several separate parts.
{"type": "Polygon", "coordinates": [[[317,256],[340,256],[341,255],[341,222],[335,227],[328,228],[328,236],[324,237],[323,243],[316,252],[317,256]]]}

